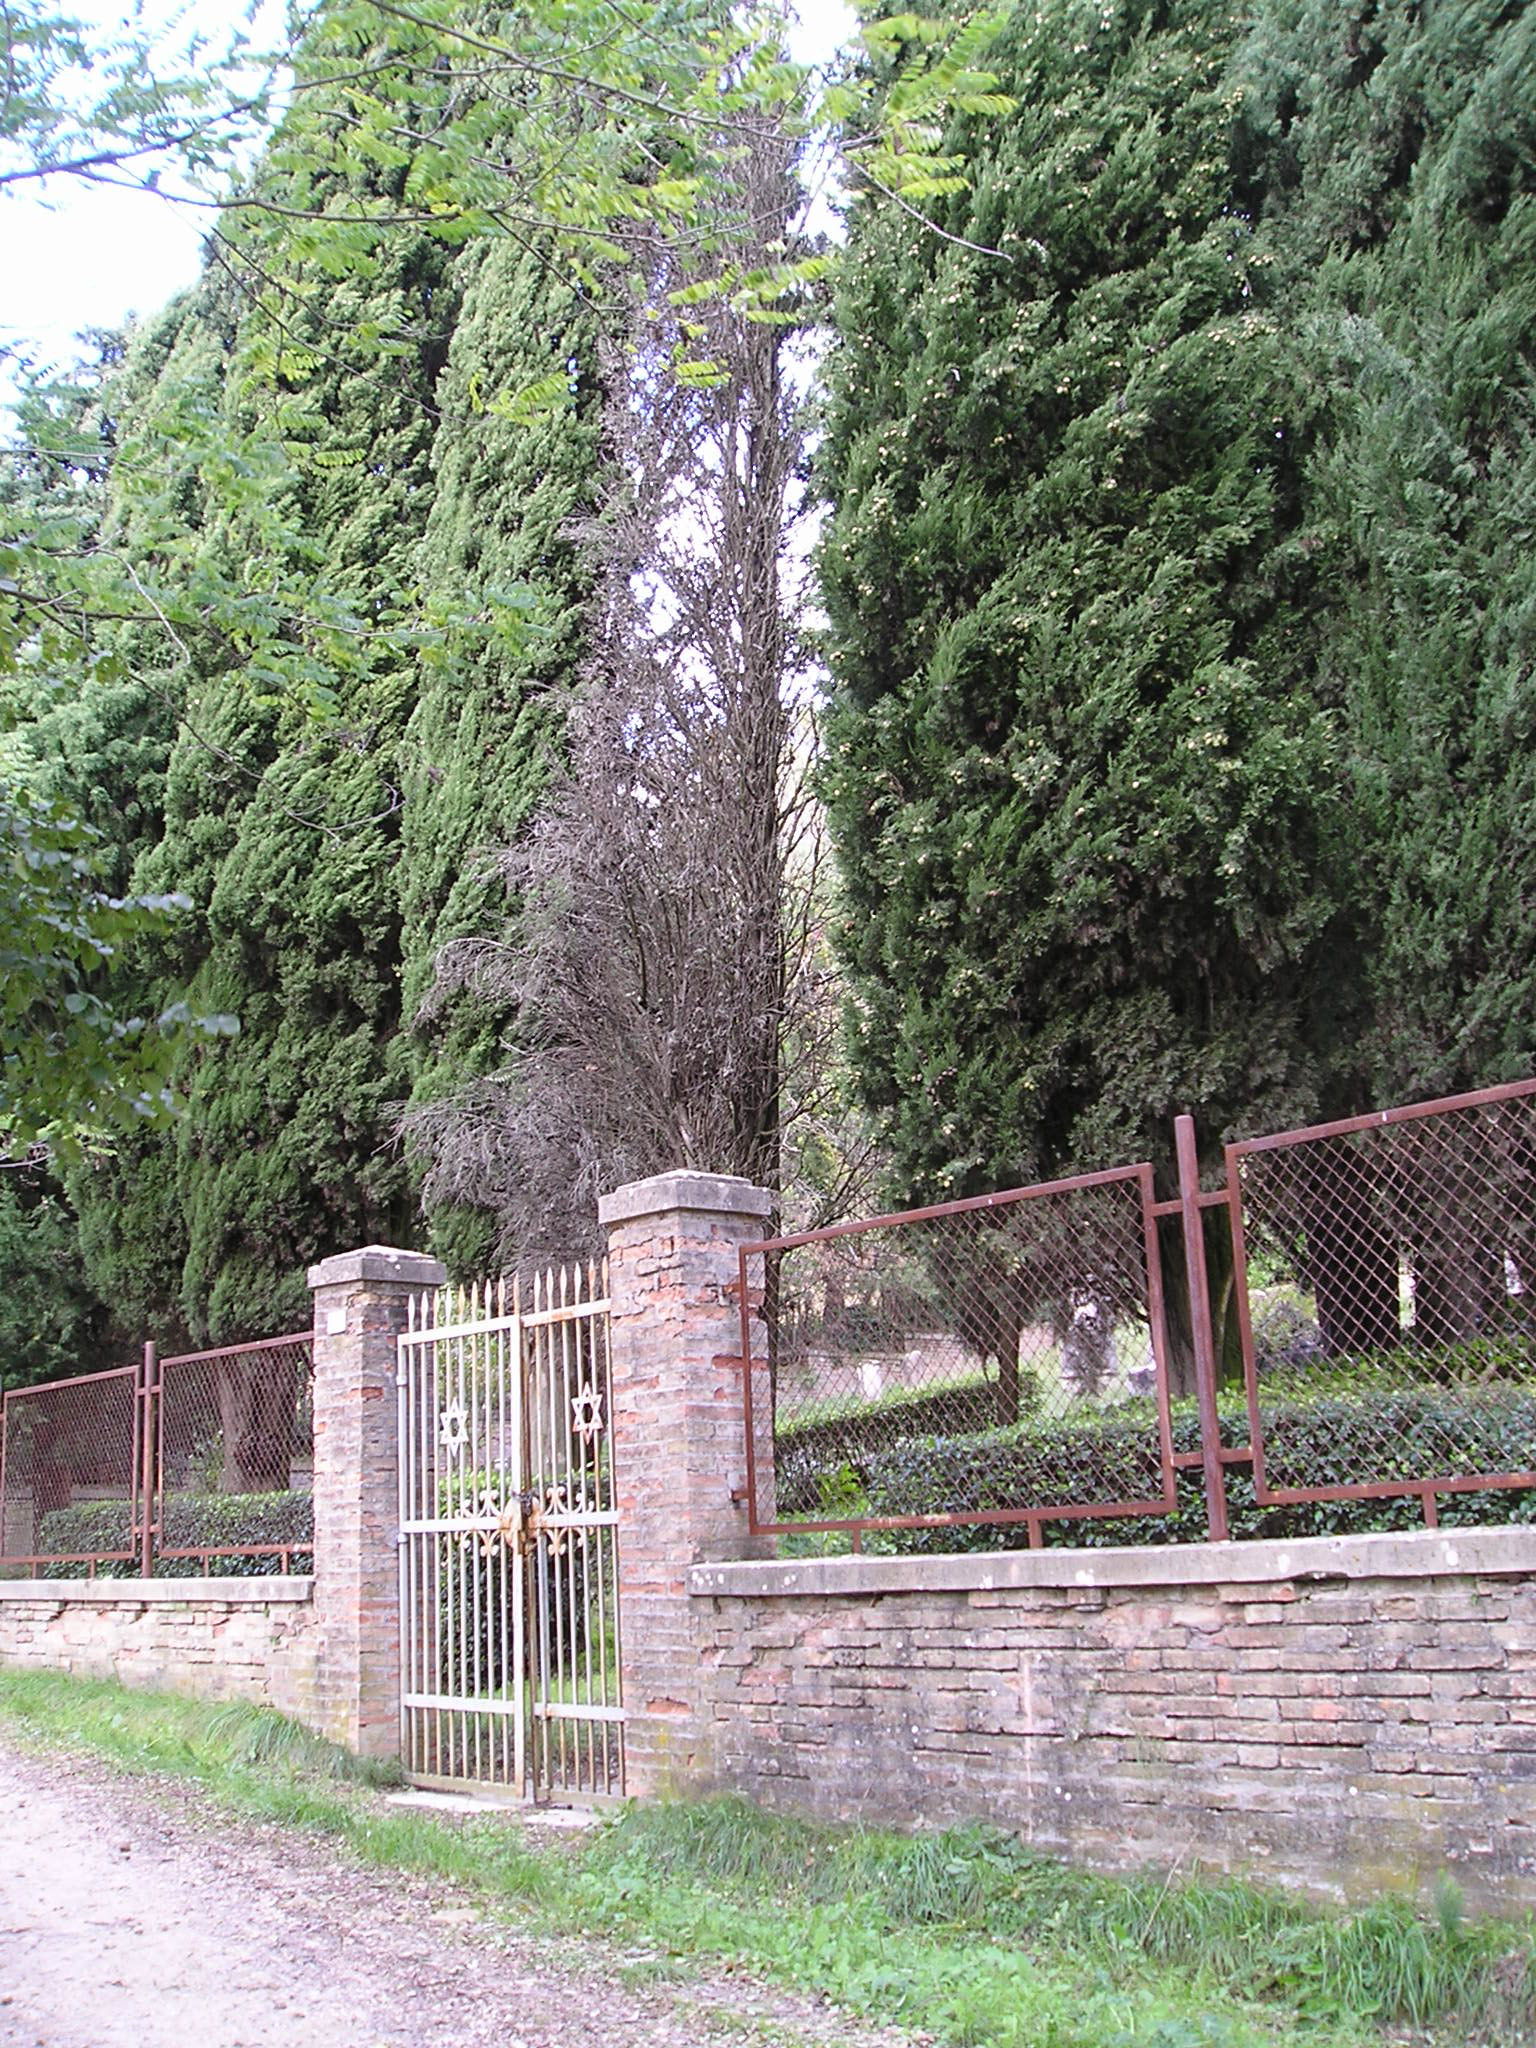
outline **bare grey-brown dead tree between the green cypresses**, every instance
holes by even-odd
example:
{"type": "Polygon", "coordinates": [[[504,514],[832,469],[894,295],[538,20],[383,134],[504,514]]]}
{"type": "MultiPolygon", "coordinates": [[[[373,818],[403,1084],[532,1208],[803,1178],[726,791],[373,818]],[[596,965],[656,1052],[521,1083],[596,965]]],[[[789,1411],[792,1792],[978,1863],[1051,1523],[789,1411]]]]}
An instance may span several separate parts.
{"type": "MultiPolygon", "coordinates": [[[[795,254],[799,207],[793,139],[764,123],[707,213],[713,254],[795,254]]],[[[494,1073],[408,1118],[428,1200],[494,1210],[504,1251],[596,1249],[596,1196],[670,1165],[778,1188],[819,1081],[784,369],[809,307],[786,289],[754,322],[707,287],[657,246],[645,303],[600,350],[569,760],[502,856],[504,930],[442,954],[428,1001],[518,1020],[494,1073]],[[707,377],[676,373],[690,348],[707,377]]]]}

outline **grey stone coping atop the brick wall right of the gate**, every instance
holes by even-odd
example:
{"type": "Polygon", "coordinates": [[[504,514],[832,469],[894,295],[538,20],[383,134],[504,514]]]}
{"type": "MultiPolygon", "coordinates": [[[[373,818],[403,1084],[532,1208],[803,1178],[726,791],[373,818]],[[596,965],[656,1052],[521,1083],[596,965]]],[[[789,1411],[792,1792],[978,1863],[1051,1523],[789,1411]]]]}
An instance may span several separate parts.
{"type": "Polygon", "coordinates": [[[731,1599],[846,1593],[993,1593],[1028,1587],[1270,1585],[1278,1579],[1536,1577],[1536,1528],[1298,1536],[1284,1542],[1147,1544],[1114,1550],[985,1550],[954,1556],[803,1556],[694,1565],[688,1591],[731,1599]]]}

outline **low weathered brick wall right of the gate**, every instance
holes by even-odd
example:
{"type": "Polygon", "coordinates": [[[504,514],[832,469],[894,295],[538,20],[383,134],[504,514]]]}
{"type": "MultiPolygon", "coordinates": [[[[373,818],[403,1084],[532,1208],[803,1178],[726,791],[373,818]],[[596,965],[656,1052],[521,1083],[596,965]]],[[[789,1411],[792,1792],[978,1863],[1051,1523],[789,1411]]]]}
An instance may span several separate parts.
{"type": "Polygon", "coordinates": [[[821,1817],[1536,1907],[1534,1575],[1530,1528],[702,1565],[700,1747],[821,1817]]]}

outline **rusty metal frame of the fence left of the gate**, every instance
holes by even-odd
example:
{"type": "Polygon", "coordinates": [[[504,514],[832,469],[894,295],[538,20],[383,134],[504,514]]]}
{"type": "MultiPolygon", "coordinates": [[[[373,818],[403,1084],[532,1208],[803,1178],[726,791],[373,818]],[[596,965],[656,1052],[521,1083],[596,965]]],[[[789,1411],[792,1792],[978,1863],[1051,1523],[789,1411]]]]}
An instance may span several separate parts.
{"type": "MultiPolygon", "coordinates": [[[[133,1366],[113,1366],[104,1372],[80,1372],[72,1378],[43,1380],[37,1386],[14,1386],[0,1397],[0,1567],[55,1567],[84,1565],[88,1577],[100,1567],[131,1565],[137,1575],[152,1579],[160,1561],[201,1559],[205,1565],[215,1559],[272,1556],[276,1569],[287,1575],[293,1561],[313,1554],[313,1540],[285,1540],[258,1544],[168,1544],[166,1536],[166,1368],[213,1366],[229,1358],[250,1358],[256,1354],[276,1354],[293,1350],[295,1368],[301,1378],[313,1384],[313,1333],[291,1331],[281,1337],[262,1337],[254,1343],[229,1343],[207,1352],[184,1352],[162,1358],[154,1343],[143,1346],[143,1356],[133,1366]],[[119,1548],[94,1550],[25,1550],[6,1548],[6,1501],[16,1491],[14,1442],[16,1419],[31,1415],[39,1403],[76,1401],[86,1389],[94,1395],[106,1386],[127,1386],[129,1391],[129,1458],[121,1475],[121,1497],[127,1509],[129,1542],[119,1548]],[[8,1491],[10,1489],[10,1491],[8,1491]]],[[[174,1384],[174,1382],[172,1382],[174,1384]]],[[[121,1575],[121,1573],[119,1573],[121,1575]]]]}

